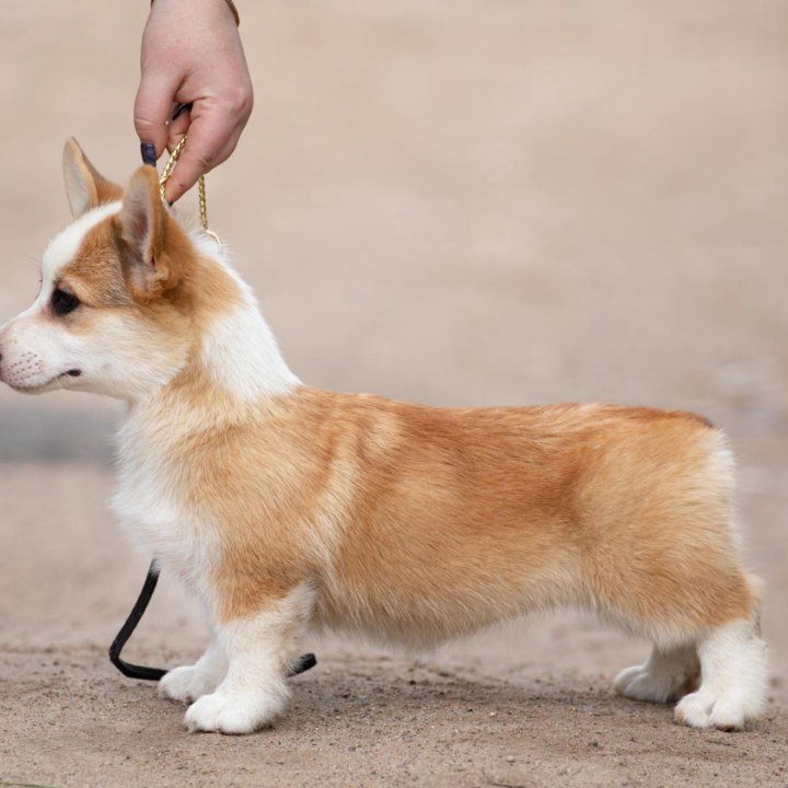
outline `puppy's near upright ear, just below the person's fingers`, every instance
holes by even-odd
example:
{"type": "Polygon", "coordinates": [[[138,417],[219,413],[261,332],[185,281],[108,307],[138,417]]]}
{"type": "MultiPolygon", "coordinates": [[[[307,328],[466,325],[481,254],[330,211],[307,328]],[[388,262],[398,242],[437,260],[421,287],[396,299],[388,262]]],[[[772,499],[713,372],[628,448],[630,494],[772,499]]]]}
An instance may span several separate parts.
{"type": "Polygon", "coordinates": [[[173,283],[171,260],[162,254],[169,217],[155,167],[146,164],[131,176],[115,221],[129,290],[135,298],[149,301],[173,283]]]}

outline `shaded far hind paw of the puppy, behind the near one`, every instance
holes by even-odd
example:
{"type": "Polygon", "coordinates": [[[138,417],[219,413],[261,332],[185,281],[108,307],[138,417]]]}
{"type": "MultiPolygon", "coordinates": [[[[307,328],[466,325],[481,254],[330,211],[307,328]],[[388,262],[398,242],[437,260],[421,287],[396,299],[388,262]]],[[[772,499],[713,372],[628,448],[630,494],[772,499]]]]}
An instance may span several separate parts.
{"type": "Polygon", "coordinates": [[[685,695],[699,672],[694,646],[667,651],[654,646],[646,664],[623,670],[613,687],[633,700],[668,703],[685,695]]]}

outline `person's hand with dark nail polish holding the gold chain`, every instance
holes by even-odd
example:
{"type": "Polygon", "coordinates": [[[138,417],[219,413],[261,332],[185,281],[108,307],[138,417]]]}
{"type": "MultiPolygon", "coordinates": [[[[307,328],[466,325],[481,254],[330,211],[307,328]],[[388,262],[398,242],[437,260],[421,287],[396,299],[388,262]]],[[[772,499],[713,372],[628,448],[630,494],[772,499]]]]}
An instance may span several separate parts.
{"type": "Polygon", "coordinates": [[[166,183],[174,202],[235,150],[252,114],[252,80],[225,0],[155,0],[142,34],[135,128],[157,159],[188,131],[166,183]],[[172,119],[178,104],[192,108],[172,119]]]}

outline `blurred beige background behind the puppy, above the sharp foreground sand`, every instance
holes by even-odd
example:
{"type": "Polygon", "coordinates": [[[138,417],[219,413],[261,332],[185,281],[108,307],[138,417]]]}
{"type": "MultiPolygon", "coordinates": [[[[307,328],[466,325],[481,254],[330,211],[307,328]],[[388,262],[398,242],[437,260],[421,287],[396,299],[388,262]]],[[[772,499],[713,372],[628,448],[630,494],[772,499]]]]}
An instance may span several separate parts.
{"type": "MultiPolygon", "coordinates": [[[[119,181],[138,164],[147,8],[3,0],[0,323],[33,300],[69,220],[63,141],[119,181]]],[[[709,416],[740,459],[785,703],[785,2],[269,0],[241,16],[256,105],[208,177],[209,217],[292,369],[430,404],[709,416]]],[[[119,413],[0,390],[4,648],[103,649],[130,607],[149,557],[105,505],[119,413]]],[[[139,648],[196,654],[198,616],[162,586],[139,648]]],[[[441,659],[612,677],[645,651],[566,614],[441,659]]]]}

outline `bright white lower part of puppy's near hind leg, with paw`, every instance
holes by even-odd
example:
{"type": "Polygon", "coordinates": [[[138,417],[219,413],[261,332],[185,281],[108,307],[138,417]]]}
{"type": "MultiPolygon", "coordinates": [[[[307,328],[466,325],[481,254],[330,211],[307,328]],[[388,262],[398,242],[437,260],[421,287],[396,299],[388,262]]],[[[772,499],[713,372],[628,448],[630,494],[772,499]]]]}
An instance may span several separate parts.
{"type": "Polygon", "coordinates": [[[741,730],[763,709],[768,676],[766,645],[751,621],[712,629],[697,646],[703,682],[675,709],[693,728],[741,730]]]}

